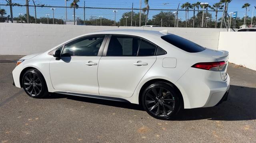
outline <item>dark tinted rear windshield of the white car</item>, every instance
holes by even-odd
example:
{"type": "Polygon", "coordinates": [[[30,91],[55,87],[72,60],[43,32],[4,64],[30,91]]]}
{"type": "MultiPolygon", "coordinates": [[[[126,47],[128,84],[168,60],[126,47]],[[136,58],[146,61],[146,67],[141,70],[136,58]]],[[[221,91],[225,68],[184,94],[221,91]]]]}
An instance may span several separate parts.
{"type": "Polygon", "coordinates": [[[197,53],[197,52],[204,51],[206,49],[192,41],[189,41],[185,38],[182,38],[182,37],[174,35],[174,34],[164,35],[161,38],[164,39],[164,41],[166,41],[184,51],[187,51],[189,53],[197,53]]]}

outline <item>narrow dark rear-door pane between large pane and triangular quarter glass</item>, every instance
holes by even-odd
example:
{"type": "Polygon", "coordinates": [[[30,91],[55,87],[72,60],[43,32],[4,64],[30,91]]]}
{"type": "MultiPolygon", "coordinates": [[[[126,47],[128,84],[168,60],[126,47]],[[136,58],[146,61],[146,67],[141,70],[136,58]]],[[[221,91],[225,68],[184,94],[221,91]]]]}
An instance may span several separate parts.
{"type": "Polygon", "coordinates": [[[154,56],[156,52],[156,45],[149,43],[146,40],[141,41],[138,56],[154,56]]]}

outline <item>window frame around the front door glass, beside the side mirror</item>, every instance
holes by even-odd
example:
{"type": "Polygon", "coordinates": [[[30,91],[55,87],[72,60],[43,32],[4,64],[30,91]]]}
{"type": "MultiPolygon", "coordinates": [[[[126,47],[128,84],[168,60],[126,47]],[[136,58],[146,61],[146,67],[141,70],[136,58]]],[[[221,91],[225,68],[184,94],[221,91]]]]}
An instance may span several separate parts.
{"type": "MultiPolygon", "coordinates": [[[[93,36],[100,36],[100,35],[104,36],[104,39],[103,39],[103,41],[102,41],[102,44],[100,45],[100,49],[99,49],[99,51],[98,51],[98,55],[97,55],[97,56],[102,56],[102,53],[103,53],[103,50],[104,50],[106,41],[107,41],[107,39],[108,39],[108,34],[85,35],[85,36],[82,36],[82,37],[78,37],[78,38],[76,38],[76,39],[73,39],[73,40],[71,40],[71,41],[68,41],[68,42],[66,42],[66,43],[64,43],[64,44],[62,45],[63,47],[62,47],[62,50],[61,50],[61,53],[60,53],[60,57],[65,57],[65,56],[62,56],[62,52],[63,52],[63,50],[64,50],[65,45],[67,45],[67,44],[69,44],[69,43],[71,43],[71,42],[73,42],[73,41],[75,41],[75,40],[79,40],[79,39],[82,39],[82,38],[93,37],[93,36]]],[[[71,56],[71,57],[95,57],[95,56],[71,56]]]]}

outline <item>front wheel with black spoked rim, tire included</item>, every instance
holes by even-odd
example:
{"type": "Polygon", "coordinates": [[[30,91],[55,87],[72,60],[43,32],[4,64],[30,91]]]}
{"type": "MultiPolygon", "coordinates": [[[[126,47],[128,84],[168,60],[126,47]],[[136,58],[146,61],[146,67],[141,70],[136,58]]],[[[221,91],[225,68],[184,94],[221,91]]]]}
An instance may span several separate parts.
{"type": "Polygon", "coordinates": [[[22,87],[26,94],[33,98],[43,98],[48,95],[44,76],[37,69],[29,69],[23,74],[22,87]]]}

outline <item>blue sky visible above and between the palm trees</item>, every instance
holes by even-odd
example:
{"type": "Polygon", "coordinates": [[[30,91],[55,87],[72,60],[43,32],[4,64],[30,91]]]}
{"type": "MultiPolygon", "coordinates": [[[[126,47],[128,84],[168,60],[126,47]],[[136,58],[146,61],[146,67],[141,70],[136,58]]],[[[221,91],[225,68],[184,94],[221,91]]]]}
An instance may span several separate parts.
{"type": "MultiPolygon", "coordinates": [[[[47,4],[48,6],[65,6],[64,0],[34,0],[36,4],[47,4]]],[[[149,0],[149,6],[153,9],[177,9],[178,4],[183,4],[185,2],[195,3],[200,0],[149,0]]],[[[13,3],[19,3],[19,4],[25,4],[25,0],[12,0],[13,3]]],[[[67,2],[67,5],[69,6],[72,0],[67,2]]],[[[103,7],[103,8],[131,8],[132,2],[134,3],[134,8],[139,8],[139,2],[140,0],[85,0],[87,7],[103,7]]],[[[204,0],[200,2],[208,2],[210,5],[219,2],[219,0],[204,0]]],[[[30,5],[33,5],[32,0],[30,0],[30,5]]],[[[249,8],[248,16],[252,15],[252,8],[253,6],[256,6],[256,0],[232,0],[232,2],[229,4],[228,12],[238,12],[238,17],[243,17],[243,14],[245,13],[245,9],[242,9],[242,5],[244,3],[250,3],[251,6],[249,8]]],[[[0,0],[0,4],[6,4],[5,0],[0,0]]],[[[80,0],[78,3],[80,6],[84,5],[84,0],[80,0]]],[[[145,6],[144,0],[142,0],[142,8],[145,6]]],[[[1,6],[1,8],[3,8],[1,6]]],[[[45,14],[52,14],[51,10],[48,10],[49,8],[42,8],[42,12],[38,14],[38,17],[45,16],[45,14]]],[[[18,13],[25,13],[24,10],[14,10],[14,14],[18,13]]],[[[37,10],[38,12],[40,11],[37,10]]],[[[87,12],[87,18],[90,16],[104,16],[108,19],[113,19],[114,14],[112,10],[86,10],[87,12]]],[[[120,12],[117,13],[117,19],[122,17],[122,13],[129,10],[120,10],[120,12]]],[[[8,12],[8,10],[7,10],[8,12]]],[[[138,11],[137,11],[138,12],[138,11]]],[[[30,8],[30,13],[33,14],[33,8],[30,8]]],[[[64,17],[65,10],[64,8],[58,8],[55,13],[56,18],[60,18],[61,16],[64,17]]],[[[157,14],[158,12],[151,13],[149,18],[152,18],[154,14],[157,14]]],[[[183,12],[184,13],[184,12],[183,12]]],[[[77,12],[78,16],[83,19],[83,11],[82,9],[78,10],[77,12]]],[[[68,19],[72,18],[72,9],[68,10],[68,19]]],[[[221,14],[219,14],[221,16],[221,14]]],[[[256,15],[256,10],[254,10],[254,16],[256,15]]],[[[192,16],[192,12],[190,12],[190,17],[192,16]]],[[[213,15],[214,16],[214,15],[213,15]]],[[[15,17],[15,16],[14,16],[15,17]]],[[[181,18],[184,18],[182,14],[180,15],[181,18]]],[[[86,18],[86,19],[87,19],[86,18]]]]}

